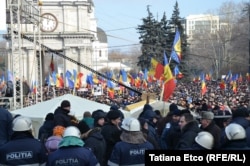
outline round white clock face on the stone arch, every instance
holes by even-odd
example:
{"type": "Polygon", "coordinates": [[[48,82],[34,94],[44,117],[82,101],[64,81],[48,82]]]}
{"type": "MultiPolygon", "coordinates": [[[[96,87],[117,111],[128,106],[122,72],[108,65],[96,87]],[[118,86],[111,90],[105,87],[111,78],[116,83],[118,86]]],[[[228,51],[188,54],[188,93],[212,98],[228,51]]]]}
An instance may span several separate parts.
{"type": "Polygon", "coordinates": [[[51,13],[43,13],[41,15],[41,31],[53,32],[58,25],[58,21],[55,15],[51,13]]]}

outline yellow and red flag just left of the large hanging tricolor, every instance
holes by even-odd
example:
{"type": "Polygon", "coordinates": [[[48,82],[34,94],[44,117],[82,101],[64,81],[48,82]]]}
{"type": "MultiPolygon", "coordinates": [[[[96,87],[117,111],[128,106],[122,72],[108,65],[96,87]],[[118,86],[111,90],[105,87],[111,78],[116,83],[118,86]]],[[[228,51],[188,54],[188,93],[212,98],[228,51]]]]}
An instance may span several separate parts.
{"type": "Polygon", "coordinates": [[[151,58],[151,68],[148,72],[148,75],[152,75],[157,80],[160,80],[163,73],[164,73],[164,66],[154,58],[151,58]]]}

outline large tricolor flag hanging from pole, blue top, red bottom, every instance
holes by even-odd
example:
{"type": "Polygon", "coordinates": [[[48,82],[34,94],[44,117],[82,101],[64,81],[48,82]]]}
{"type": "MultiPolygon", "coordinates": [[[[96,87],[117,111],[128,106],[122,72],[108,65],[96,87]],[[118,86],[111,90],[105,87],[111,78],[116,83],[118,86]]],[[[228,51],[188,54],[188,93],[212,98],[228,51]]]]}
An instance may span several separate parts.
{"type": "Polygon", "coordinates": [[[172,71],[168,64],[168,59],[164,51],[164,85],[163,85],[163,101],[168,101],[169,97],[173,94],[176,84],[172,71]]]}

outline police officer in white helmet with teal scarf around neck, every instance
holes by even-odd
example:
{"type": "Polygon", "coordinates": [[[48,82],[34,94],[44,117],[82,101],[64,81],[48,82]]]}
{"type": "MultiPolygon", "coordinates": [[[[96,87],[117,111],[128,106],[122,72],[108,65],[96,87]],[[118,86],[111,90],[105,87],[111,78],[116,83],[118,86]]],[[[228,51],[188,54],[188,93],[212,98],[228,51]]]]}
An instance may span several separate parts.
{"type": "Polygon", "coordinates": [[[49,153],[47,166],[74,165],[74,166],[99,166],[93,152],[84,148],[80,138],[80,131],[75,126],[69,126],[63,133],[59,149],[49,153]]]}

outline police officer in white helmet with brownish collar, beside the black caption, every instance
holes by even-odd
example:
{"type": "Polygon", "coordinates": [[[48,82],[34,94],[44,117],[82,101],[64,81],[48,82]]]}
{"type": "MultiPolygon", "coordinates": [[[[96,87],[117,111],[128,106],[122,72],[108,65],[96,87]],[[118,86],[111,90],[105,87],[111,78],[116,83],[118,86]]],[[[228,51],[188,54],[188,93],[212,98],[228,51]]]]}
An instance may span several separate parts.
{"type": "Polygon", "coordinates": [[[123,129],[122,141],[115,144],[108,165],[144,165],[145,150],[154,149],[154,147],[140,131],[140,122],[135,118],[125,118],[121,128],[123,129]]]}

